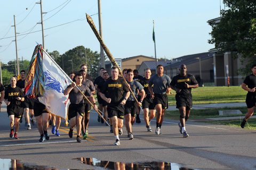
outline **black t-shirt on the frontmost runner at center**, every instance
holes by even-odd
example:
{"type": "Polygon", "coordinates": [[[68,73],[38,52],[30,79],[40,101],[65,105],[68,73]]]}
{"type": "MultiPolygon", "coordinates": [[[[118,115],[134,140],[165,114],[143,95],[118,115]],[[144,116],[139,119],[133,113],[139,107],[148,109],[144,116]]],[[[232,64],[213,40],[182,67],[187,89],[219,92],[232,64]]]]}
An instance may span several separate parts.
{"type": "Polygon", "coordinates": [[[124,80],[118,77],[117,80],[108,79],[102,88],[102,94],[111,99],[110,104],[120,104],[124,95],[129,91],[124,80]]]}

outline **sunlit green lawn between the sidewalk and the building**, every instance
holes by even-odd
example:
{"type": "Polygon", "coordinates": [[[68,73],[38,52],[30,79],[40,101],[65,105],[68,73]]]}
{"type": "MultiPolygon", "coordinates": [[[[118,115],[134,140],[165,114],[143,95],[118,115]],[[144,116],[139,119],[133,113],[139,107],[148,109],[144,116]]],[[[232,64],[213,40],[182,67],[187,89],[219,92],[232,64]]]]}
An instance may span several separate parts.
{"type": "MultiPolygon", "coordinates": [[[[168,95],[168,104],[175,105],[175,91],[168,95]]],[[[192,89],[193,104],[245,102],[247,91],[240,86],[198,87],[192,89]]]]}

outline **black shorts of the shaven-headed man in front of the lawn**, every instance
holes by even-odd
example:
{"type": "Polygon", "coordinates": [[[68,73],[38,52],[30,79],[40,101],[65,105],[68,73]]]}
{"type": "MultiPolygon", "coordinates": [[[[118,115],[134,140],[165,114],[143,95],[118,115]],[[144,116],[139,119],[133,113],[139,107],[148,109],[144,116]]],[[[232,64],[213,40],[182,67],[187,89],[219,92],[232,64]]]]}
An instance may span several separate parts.
{"type": "Polygon", "coordinates": [[[190,111],[190,109],[193,106],[191,94],[187,96],[176,94],[175,99],[176,99],[176,108],[186,107],[186,111],[190,111]]]}

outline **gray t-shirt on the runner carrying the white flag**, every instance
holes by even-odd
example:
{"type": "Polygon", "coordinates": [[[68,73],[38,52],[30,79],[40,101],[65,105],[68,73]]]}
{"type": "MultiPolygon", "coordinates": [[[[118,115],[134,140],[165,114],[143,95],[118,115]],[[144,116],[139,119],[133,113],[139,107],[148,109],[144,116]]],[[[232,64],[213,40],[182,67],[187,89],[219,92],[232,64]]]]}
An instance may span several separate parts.
{"type": "MultiPolygon", "coordinates": [[[[69,85],[67,88],[71,87],[71,85],[69,85]]],[[[77,86],[78,87],[78,86],[77,86]]],[[[89,88],[87,88],[86,86],[84,86],[82,84],[82,86],[78,87],[79,90],[81,90],[83,92],[83,94],[85,96],[92,96],[91,91],[89,88]]],[[[76,87],[74,87],[70,92],[69,92],[69,100],[71,104],[81,104],[84,103],[84,96],[81,94],[81,92],[78,91],[78,89],[76,87]]]]}

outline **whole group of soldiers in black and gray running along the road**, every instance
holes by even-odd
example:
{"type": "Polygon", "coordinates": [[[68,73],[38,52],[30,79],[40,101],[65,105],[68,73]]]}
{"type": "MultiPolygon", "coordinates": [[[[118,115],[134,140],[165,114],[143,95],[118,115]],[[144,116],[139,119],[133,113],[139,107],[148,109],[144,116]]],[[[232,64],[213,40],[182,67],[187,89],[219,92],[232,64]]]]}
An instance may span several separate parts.
{"type": "MultiPolygon", "coordinates": [[[[110,132],[115,135],[114,145],[120,145],[119,135],[123,135],[123,120],[125,120],[125,128],[129,140],[134,138],[132,133],[132,125],[135,122],[140,123],[139,113],[143,110],[143,117],[148,132],[152,132],[150,121],[156,115],[157,135],[162,134],[161,126],[164,120],[165,110],[168,108],[167,94],[171,89],[176,91],[176,107],[180,112],[180,122],[178,123],[179,131],[183,138],[187,138],[189,134],[186,131],[186,121],[190,115],[192,108],[191,89],[197,88],[198,83],[192,74],[187,73],[187,66],[180,65],[180,73],[173,77],[164,74],[163,65],[158,65],[156,74],[151,76],[150,69],[145,70],[145,77],[138,76],[137,70],[124,69],[121,77],[118,67],[111,68],[111,77],[104,69],[100,69],[100,75],[92,82],[92,77],[87,74],[87,66],[81,65],[78,73],[70,73],[69,77],[73,82],[64,90],[63,94],[69,95],[70,105],[68,109],[69,119],[69,137],[73,138],[73,129],[76,126],[77,142],[82,142],[88,137],[88,125],[90,119],[91,106],[95,111],[103,113],[105,120],[110,123],[110,132]],[[135,78],[134,78],[135,77],[135,78]],[[81,93],[82,91],[82,93],[81,93]],[[99,106],[95,103],[93,95],[97,91],[97,99],[99,106]],[[141,107],[142,106],[142,107],[141,107]],[[156,114],[157,113],[157,114],[156,114]]],[[[252,74],[246,77],[242,84],[242,88],[249,91],[246,97],[248,112],[241,123],[244,128],[247,119],[253,115],[255,107],[255,86],[256,86],[256,64],[252,66],[252,74]]],[[[1,98],[0,107],[4,101],[7,105],[7,114],[10,119],[10,138],[18,138],[18,130],[22,114],[25,111],[26,128],[31,129],[31,124],[35,124],[33,116],[37,122],[37,128],[40,133],[39,142],[49,140],[50,135],[47,133],[49,128],[49,120],[52,121],[52,133],[57,137],[60,136],[59,128],[61,118],[49,114],[45,109],[45,105],[38,99],[31,99],[24,94],[26,72],[20,72],[21,79],[17,81],[17,77],[10,79],[10,85],[4,90],[2,84],[0,86],[1,98]],[[30,112],[30,116],[29,116],[30,112]]],[[[100,122],[102,118],[98,118],[100,122]]],[[[103,119],[102,119],[103,120],[103,119]]],[[[102,121],[103,123],[103,121],[102,121]]],[[[108,123],[106,122],[106,125],[108,123]]]]}

